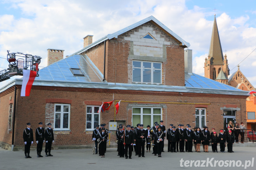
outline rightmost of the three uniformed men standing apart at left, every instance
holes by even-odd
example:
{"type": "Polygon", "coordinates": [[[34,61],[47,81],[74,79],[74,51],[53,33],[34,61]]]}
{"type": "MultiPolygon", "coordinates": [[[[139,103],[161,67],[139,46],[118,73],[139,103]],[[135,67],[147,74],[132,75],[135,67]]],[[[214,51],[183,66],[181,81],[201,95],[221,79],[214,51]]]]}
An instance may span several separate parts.
{"type": "Polygon", "coordinates": [[[44,138],[45,138],[45,156],[53,156],[51,154],[51,149],[52,149],[52,142],[54,142],[54,135],[53,135],[53,130],[52,130],[52,124],[48,123],[48,128],[45,129],[44,132],[44,138]],[[49,152],[49,154],[47,154],[49,152]]]}

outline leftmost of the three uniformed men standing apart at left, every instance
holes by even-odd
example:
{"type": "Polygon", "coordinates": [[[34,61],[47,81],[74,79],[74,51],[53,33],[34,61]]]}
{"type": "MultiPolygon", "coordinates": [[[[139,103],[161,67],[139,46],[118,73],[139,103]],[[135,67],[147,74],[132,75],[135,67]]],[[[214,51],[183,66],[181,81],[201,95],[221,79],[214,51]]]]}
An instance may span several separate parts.
{"type": "Polygon", "coordinates": [[[31,158],[30,154],[30,146],[33,144],[33,130],[30,128],[31,124],[27,123],[27,128],[23,130],[23,140],[25,144],[25,158],[31,158]]]}

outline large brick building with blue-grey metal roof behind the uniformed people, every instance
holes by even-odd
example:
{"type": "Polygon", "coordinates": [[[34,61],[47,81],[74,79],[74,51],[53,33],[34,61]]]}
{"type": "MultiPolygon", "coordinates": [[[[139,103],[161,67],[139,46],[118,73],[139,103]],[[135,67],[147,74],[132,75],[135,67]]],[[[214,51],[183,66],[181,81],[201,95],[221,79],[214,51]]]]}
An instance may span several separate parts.
{"type": "MultiPolygon", "coordinates": [[[[189,46],[153,16],[93,43],[86,36],[83,49],[39,70],[29,97],[20,96],[22,79],[0,89],[1,145],[23,146],[27,122],[32,129],[51,122],[53,147],[91,145],[95,125],[112,128],[114,121],[216,130],[229,120],[246,122],[247,92],[192,73],[189,46]],[[113,99],[122,100],[117,115],[114,104],[97,113],[113,99]]],[[[59,52],[48,49],[48,58],[59,52]]],[[[115,131],[110,139],[115,144],[115,131]]]]}

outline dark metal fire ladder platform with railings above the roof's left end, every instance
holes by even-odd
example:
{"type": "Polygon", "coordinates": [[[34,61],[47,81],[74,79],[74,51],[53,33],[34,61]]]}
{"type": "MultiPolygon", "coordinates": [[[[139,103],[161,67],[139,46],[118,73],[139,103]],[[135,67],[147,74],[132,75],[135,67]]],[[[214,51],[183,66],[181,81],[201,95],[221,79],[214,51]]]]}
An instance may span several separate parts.
{"type": "Polygon", "coordinates": [[[9,62],[9,68],[0,71],[0,82],[10,79],[15,75],[23,75],[23,69],[32,70],[37,72],[38,65],[41,62],[41,57],[31,54],[23,53],[9,53],[7,50],[7,61],[9,62]]]}

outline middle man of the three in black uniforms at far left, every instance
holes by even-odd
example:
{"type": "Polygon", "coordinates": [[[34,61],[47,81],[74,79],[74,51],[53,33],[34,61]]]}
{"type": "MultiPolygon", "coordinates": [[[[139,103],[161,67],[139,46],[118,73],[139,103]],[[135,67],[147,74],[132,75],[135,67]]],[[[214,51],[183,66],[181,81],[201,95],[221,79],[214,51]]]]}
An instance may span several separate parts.
{"type": "Polygon", "coordinates": [[[38,123],[39,127],[36,129],[36,142],[37,142],[37,157],[43,157],[41,151],[44,143],[44,128],[43,122],[38,123]]]}

